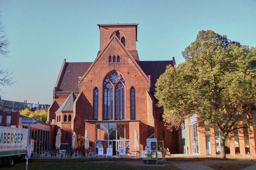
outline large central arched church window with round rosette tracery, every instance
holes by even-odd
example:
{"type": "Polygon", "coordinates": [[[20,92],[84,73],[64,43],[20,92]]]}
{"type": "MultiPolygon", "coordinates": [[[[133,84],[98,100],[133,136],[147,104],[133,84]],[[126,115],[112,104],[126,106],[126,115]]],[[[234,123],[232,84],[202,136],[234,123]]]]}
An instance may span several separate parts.
{"type": "Polygon", "coordinates": [[[104,120],[124,119],[124,90],[122,75],[109,73],[104,81],[104,120]]]}

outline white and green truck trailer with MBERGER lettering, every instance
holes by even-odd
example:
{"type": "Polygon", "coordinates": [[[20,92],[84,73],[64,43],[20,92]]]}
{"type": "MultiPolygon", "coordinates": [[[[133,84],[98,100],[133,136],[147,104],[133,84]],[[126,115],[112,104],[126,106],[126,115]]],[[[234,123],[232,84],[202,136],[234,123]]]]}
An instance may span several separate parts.
{"type": "Polygon", "coordinates": [[[16,160],[25,155],[28,144],[28,129],[0,126],[0,165],[13,166],[16,160]]]}

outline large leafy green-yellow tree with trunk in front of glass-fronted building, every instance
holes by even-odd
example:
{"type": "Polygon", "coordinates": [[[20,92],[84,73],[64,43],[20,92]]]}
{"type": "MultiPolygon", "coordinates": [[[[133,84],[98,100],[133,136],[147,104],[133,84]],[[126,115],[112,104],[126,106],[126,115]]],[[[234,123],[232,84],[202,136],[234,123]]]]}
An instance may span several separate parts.
{"type": "Polygon", "coordinates": [[[198,121],[217,125],[226,158],[228,133],[256,104],[256,48],[202,30],[182,55],[185,62],[177,68],[168,66],[156,83],[163,118],[168,128],[178,129],[193,114],[198,121]]]}

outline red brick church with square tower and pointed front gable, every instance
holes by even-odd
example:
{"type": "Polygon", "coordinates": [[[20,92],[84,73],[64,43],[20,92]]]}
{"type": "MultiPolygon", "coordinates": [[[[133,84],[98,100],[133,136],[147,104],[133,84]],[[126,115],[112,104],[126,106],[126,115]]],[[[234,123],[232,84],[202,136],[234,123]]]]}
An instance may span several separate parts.
{"type": "Polygon", "coordinates": [[[54,132],[60,128],[61,143],[68,145],[76,132],[77,150],[84,150],[87,129],[90,147],[85,152],[103,147],[106,153],[110,146],[113,155],[119,148],[146,150],[146,139],[152,134],[164,140],[170,152],[178,152],[179,135],[164,126],[163,109],[156,107],[154,97],[155,83],[166,66],[176,67],[174,57],[169,61],[140,61],[136,49],[138,24],[98,26],[100,48],[95,60],[63,61],[48,110],[48,121],[56,125],[54,132]]]}

